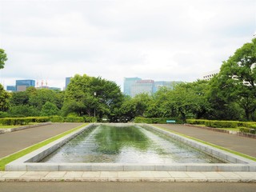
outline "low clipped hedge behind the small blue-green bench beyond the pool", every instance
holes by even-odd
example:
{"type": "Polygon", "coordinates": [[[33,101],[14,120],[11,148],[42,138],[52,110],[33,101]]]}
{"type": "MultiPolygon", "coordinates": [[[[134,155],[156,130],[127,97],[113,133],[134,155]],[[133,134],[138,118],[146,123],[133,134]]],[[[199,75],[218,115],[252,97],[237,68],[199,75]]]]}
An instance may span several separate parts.
{"type": "Polygon", "coordinates": [[[174,120],[176,123],[182,123],[182,120],[179,118],[142,118],[142,117],[136,117],[134,118],[135,123],[148,123],[148,124],[166,124],[167,120],[174,120]]]}

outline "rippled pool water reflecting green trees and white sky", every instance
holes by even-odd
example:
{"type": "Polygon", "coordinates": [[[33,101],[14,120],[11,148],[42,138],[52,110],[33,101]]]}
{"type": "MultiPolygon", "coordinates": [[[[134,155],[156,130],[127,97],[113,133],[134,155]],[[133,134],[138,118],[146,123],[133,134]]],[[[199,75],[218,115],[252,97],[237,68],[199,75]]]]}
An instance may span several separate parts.
{"type": "Polygon", "coordinates": [[[217,163],[218,159],[140,126],[85,130],[42,162],[217,163]]]}

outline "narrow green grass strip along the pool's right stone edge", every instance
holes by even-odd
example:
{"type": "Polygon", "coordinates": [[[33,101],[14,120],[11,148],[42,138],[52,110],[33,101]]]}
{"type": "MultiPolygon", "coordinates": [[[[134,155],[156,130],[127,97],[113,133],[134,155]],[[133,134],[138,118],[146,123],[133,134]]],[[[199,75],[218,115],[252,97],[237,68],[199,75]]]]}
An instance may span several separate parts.
{"type": "Polygon", "coordinates": [[[202,142],[203,144],[206,144],[206,145],[208,145],[208,146],[213,146],[213,147],[215,147],[215,148],[217,148],[217,149],[219,149],[219,150],[225,150],[226,152],[229,152],[229,153],[231,153],[231,154],[236,154],[236,155],[238,155],[238,156],[240,156],[240,157],[242,157],[242,158],[248,158],[248,159],[250,159],[250,160],[256,162],[256,158],[251,157],[250,155],[242,154],[242,153],[239,153],[238,151],[235,151],[235,150],[229,150],[229,149],[226,149],[225,147],[217,146],[217,145],[214,145],[213,143],[205,142],[205,141],[202,141],[202,140],[200,140],[200,139],[198,139],[198,138],[192,138],[192,137],[190,137],[190,136],[187,136],[186,134],[180,134],[180,133],[178,133],[178,132],[176,132],[176,131],[168,130],[168,129],[163,128],[163,127],[160,127],[160,126],[158,126],[158,128],[159,128],[159,129],[162,129],[162,130],[169,131],[169,132],[174,133],[174,134],[178,134],[178,135],[180,135],[180,136],[182,136],[182,137],[185,137],[185,138],[190,138],[190,139],[192,139],[192,140],[194,140],[194,141],[196,141],[196,142],[202,142]]]}

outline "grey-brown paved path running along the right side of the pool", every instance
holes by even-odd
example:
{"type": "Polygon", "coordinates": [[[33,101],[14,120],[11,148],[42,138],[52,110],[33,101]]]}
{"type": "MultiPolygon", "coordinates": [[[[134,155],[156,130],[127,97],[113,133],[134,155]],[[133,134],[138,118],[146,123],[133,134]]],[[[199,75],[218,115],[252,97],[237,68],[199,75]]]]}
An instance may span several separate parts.
{"type": "MultiPolygon", "coordinates": [[[[154,126],[154,125],[153,125],[154,126]]],[[[180,134],[186,134],[193,138],[198,138],[205,142],[210,142],[218,146],[223,146],[230,150],[238,151],[242,154],[256,158],[256,139],[239,137],[236,134],[224,134],[212,130],[204,130],[193,126],[158,124],[157,126],[174,130],[180,134]]]]}

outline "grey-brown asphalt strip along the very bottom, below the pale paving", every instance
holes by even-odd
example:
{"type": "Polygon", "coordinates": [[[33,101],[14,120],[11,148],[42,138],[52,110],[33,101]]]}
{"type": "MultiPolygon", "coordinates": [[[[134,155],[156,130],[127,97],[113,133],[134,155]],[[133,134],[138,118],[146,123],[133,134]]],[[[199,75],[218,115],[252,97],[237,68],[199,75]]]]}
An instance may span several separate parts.
{"type": "Polygon", "coordinates": [[[254,192],[256,183],[240,182],[2,182],[1,192],[254,192]]]}

